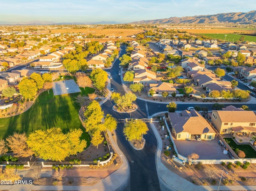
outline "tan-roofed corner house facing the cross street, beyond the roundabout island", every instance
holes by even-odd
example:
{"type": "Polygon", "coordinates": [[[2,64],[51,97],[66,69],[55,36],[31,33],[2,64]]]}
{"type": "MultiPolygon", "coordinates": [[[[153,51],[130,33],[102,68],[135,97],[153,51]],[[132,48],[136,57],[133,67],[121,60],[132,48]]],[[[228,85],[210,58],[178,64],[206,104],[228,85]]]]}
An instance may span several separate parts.
{"type": "Polygon", "coordinates": [[[171,96],[173,92],[176,93],[176,88],[174,88],[173,83],[166,83],[160,81],[158,84],[149,84],[149,87],[150,89],[148,90],[148,92],[152,89],[155,91],[156,95],[162,95],[163,92],[168,92],[169,96],[171,96]]]}

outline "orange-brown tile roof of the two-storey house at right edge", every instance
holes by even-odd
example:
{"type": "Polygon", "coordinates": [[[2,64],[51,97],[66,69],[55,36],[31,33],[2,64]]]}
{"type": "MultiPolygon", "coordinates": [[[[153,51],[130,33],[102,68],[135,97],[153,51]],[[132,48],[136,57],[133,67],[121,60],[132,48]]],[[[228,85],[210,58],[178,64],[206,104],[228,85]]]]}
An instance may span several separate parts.
{"type": "Polygon", "coordinates": [[[256,115],[253,111],[226,111],[216,110],[222,122],[256,122],[256,115]]]}

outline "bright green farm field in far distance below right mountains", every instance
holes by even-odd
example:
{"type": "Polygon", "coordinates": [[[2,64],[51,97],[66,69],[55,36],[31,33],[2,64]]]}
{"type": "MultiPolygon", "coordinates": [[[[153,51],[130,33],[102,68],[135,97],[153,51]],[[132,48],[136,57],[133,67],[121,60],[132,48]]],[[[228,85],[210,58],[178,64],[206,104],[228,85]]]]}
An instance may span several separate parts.
{"type": "MultiPolygon", "coordinates": [[[[200,35],[209,36],[214,39],[222,39],[222,40],[224,40],[225,35],[227,35],[226,42],[228,42],[228,39],[230,42],[233,42],[233,39],[234,39],[234,42],[239,41],[240,37],[242,36],[241,34],[219,34],[219,33],[218,34],[216,34],[216,33],[200,33],[200,35]]],[[[245,41],[256,42],[256,36],[245,35],[245,41]]]]}

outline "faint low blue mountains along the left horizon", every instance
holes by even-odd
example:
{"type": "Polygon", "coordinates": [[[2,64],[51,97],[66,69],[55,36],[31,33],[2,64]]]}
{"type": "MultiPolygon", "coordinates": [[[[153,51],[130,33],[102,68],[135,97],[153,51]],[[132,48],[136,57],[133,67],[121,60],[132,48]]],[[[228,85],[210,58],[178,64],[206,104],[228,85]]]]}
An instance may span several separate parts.
{"type": "Polygon", "coordinates": [[[8,21],[0,21],[0,25],[75,25],[75,24],[122,24],[120,22],[114,21],[102,21],[102,22],[62,22],[56,23],[51,21],[28,21],[28,22],[8,22],[8,21]]]}

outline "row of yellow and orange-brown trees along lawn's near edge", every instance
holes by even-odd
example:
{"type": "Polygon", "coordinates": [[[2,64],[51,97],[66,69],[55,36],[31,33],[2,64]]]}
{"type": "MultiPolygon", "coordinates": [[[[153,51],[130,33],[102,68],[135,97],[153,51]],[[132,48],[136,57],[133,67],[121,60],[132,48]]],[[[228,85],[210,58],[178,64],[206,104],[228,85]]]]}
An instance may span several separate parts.
{"type": "Polygon", "coordinates": [[[5,140],[0,140],[0,155],[6,154],[10,148],[15,157],[38,156],[52,161],[62,161],[70,155],[82,152],[86,141],[80,140],[81,129],[70,130],[64,134],[60,128],[35,130],[28,137],[25,133],[14,132],[5,140]]]}

